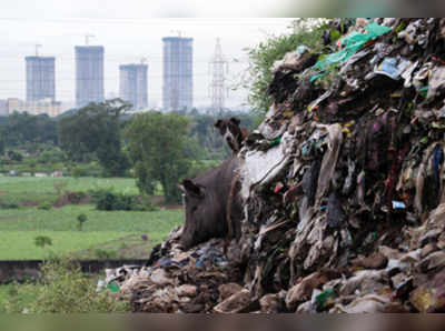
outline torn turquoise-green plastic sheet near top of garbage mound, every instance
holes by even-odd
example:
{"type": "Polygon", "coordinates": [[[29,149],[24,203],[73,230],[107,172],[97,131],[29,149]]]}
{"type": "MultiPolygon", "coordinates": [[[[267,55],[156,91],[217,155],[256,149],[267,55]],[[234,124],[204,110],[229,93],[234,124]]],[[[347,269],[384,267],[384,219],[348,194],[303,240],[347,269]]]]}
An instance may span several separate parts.
{"type": "MultiPolygon", "coordinates": [[[[366,44],[369,40],[376,39],[385,33],[388,33],[392,29],[388,27],[382,27],[376,22],[370,22],[365,27],[367,33],[352,32],[345,37],[343,37],[339,42],[345,47],[335,53],[332,53],[315,63],[314,69],[318,69],[322,71],[326,71],[330,66],[344,62],[348,60],[352,56],[354,56],[362,47],[366,44]]],[[[320,78],[320,73],[315,74],[310,82],[320,78]]],[[[323,76],[322,76],[323,77],[323,76]]]]}

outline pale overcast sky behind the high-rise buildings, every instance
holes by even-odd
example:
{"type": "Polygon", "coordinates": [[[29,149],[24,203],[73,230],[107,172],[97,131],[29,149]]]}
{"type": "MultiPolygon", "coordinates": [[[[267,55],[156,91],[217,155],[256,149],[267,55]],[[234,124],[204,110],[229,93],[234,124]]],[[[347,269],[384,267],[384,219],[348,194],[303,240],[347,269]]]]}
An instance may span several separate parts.
{"type": "MultiPolygon", "coordinates": [[[[160,6],[166,1],[117,0],[40,0],[14,1],[0,4],[0,99],[26,96],[24,57],[34,54],[34,44],[41,56],[56,57],[56,97],[61,101],[75,100],[75,46],[85,44],[85,34],[93,34],[90,44],[105,47],[106,97],[119,91],[119,64],[140,62],[148,58],[148,98],[150,104],[160,106],[162,76],[161,38],[178,36],[194,38],[194,103],[209,104],[209,60],[216,38],[229,60],[229,80],[235,83],[245,71],[247,56],[244,49],[265,40],[267,34],[288,31],[291,19],[205,18],[199,1],[172,1],[176,6],[160,6]],[[105,7],[107,6],[107,7],[105,7]],[[182,6],[182,7],[181,7],[182,6]],[[162,18],[164,17],[164,18],[162,18]],[[166,18],[201,17],[201,18],[166,18]],[[235,62],[236,59],[238,62],[235,62]]],[[[225,9],[239,7],[239,16],[253,16],[270,6],[261,1],[257,11],[249,11],[249,1],[226,0],[218,3],[225,9]]],[[[171,1],[170,1],[171,3],[171,1]]],[[[251,4],[251,3],[250,3],[251,4]]],[[[217,8],[214,8],[214,12],[217,8]]],[[[245,102],[246,91],[231,92],[227,106],[245,102]]]]}

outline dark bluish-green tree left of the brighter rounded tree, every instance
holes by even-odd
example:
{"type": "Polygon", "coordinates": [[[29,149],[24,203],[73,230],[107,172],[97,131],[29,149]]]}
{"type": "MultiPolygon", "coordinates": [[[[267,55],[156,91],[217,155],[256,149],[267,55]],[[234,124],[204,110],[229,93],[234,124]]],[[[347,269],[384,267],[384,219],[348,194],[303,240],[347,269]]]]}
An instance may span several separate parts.
{"type": "Polygon", "coordinates": [[[121,149],[120,116],[130,104],[120,99],[90,103],[60,119],[58,133],[62,150],[73,161],[97,157],[106,175],[123,175],[129,167],[121,149]]]}

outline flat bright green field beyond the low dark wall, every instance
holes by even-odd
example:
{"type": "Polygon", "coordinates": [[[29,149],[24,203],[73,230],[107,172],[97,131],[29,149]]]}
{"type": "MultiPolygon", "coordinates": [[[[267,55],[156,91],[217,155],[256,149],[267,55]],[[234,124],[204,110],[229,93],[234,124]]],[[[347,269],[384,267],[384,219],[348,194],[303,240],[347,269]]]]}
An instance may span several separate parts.
{"type": "Polygon", "coordinates": [[[0,177],[0,201],[14,202],[18,209],[0,209],[0,259],[42,259],[71,254],[93,258],[147,258],[150,249],[166,239],[182,223],[180,209],[160,209],[152,212],[98,211],[92,204],[68,204],[40,210],[28,202],[57,200],[55,184],[66,183],[67,191],[113,188],[116,192],[137,194],[134,179],[95,178],[22,178],[0,177]],[[77,217],[87,215],[82,231],[77,217]],[[147,234],[149,240],[142,240],[147,234]],[[52,245],[34,245],[34,238],[46,235],[52,245]]]}

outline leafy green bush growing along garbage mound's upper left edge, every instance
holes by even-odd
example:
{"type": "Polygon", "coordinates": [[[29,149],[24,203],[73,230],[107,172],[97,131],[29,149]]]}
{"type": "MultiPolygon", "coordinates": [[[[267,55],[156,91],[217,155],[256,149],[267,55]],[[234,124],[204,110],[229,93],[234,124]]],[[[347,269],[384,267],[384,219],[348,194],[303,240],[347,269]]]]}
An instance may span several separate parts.
{"type": "Polygon", "coordinates": [[[322,36],[325,30],[323,20],[298,19],[291,27],[291,32],[268,38],[254,48],[247,49],[249,56],[248,78],[243,84],[249,89],[249,103],[257,113],[266,113],[271,99],[266,94],[267,87],[273,80],[271,67],[275,61],[294,51],[298,46],[307,46],[312,52],[323,49],[322,36]]]}

